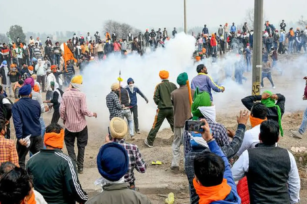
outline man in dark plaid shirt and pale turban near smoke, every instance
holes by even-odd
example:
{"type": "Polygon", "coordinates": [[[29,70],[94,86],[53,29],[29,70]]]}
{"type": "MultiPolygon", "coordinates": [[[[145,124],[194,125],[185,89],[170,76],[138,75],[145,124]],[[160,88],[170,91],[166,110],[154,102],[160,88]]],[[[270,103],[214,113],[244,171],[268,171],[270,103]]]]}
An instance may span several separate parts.
{"type": "Polygon", "coordinates": [[[119,98],[115,93],[116,91],[119,91],[119,82],[112,84],[111,92],[106,97],[107,107],[110,112],[110,121],[113,117],[124,117],[122,113],[122,108],[124,108],[125,106],[120,104],[119,98]]]}

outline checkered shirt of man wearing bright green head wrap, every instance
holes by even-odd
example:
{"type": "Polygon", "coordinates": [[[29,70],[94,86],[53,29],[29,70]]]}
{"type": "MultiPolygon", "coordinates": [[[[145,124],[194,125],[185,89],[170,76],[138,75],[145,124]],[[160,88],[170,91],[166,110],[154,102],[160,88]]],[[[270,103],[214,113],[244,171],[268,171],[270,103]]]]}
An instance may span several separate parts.
{"type": "MultiPolygon", "coordinates": [[[[225,127],[217,122],[212,122],[207,120],[209,127],[212,131],[212,135],[216,141],[216,143],[220,146],[226,146],[230,143],[230,139],[227,135],[227,131],[225,129],[225,127]]],[[[191,133],[188,131],[184,131],[184,141],[185,141],[185,155],[188,154],[189,151],[192,150],[192,146],[191,146],[191,133]]]]}

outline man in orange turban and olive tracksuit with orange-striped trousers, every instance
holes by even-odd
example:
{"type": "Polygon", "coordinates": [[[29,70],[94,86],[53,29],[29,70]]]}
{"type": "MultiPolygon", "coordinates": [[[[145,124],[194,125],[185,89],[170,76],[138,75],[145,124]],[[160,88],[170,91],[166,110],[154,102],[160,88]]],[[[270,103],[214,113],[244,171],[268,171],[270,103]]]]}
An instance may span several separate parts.
{"type": "Polygon", "coordinates": [[[169,82],[168,71],[160,71],[159,76],[162,82],[156,86],[153,94],[153,101],[157,104],[158,109],[153,122],[153,127],[144,141],[148,147],[153,147],[154,139],[156,138],[157,132],[159,131],[165,118],[169,122],[169,125],[174,132],[174,111],[171,93],[177,89],[177,86],[174,83],[169,82]]]}

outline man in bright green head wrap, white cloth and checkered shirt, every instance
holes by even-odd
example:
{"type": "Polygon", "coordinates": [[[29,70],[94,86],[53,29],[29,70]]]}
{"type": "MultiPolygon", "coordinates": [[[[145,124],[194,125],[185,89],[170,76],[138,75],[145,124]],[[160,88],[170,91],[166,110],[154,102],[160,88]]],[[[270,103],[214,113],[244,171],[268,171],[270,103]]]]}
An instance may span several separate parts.
{"type": "MultiPolygon", "coordinates": [[[[193,120],[199,120],[200,118],[205,118],[208,121],[208,124],[212,130],[212,134],[216,139],[216,143],[220,147],[229,145],[230,139],[225,127],[222,124],[216,122],[216,109],[210,100],[210,94],[205,91],[199,92],[198,87],[196,88],[194,94],[194,101],[192,104],[192,114],[193,114],[193,120]]],[[[192,150],[190,142],[192,135],[193,133],[184,131],[185,155],[187,155],[188,152],[192,150]]]]}

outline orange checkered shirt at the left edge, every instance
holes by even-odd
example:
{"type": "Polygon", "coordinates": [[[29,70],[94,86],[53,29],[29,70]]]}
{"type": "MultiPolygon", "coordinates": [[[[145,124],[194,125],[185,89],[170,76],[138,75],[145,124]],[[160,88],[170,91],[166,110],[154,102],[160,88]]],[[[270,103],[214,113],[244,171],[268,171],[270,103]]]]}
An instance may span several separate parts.
{"type": "Polygon", "coordinates": [[[0,165],[6,161],[10,161],[19,167],[18,154],[14,141],[0,136],[0,165]]]}

